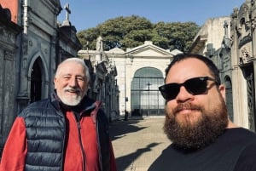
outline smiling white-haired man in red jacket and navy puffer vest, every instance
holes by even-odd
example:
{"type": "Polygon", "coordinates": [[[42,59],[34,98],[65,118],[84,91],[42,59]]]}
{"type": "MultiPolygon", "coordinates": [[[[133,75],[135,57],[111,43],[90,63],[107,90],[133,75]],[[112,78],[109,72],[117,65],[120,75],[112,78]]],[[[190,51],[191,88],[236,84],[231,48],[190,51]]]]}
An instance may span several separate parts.
{"type": "Polygon", "coordinates": [[[84,60],[64,60],[55,92],[28,105],[15,119],[3,150],[1,171],[116,171],[108,119],[86,96],[84,60]]]}

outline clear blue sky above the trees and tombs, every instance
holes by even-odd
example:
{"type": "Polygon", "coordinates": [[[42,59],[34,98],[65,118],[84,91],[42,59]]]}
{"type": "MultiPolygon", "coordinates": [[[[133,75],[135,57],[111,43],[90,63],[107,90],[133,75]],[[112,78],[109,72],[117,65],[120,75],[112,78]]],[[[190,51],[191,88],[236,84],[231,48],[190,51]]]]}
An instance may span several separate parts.
{"type": "Polygon", "coordinates": [[[61,0],[59,21],[66,17],[64,6],[69,3],[69,20],[82,31],[96,27],[106,20],[132,14],[145,17],[152,23],[194,21],[201,26],[209,18],[230,16],[235,7],[246,0],[61,0]]]}

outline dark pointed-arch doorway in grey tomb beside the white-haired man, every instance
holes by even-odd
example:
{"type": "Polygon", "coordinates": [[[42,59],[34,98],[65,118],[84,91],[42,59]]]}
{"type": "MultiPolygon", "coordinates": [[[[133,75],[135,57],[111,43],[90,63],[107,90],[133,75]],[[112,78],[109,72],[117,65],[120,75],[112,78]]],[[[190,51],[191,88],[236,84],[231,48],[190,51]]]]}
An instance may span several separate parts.
{"type": "Polygon", "coordinates": [[[42,60],[38,58],[32,67],[30,102],[41,100],[42,94],[42,60]]]}

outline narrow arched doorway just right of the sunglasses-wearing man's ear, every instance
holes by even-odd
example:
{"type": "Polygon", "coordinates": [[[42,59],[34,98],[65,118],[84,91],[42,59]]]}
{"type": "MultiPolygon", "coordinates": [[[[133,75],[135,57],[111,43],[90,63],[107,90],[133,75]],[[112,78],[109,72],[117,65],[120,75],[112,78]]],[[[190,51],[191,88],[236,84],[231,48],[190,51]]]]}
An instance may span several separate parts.
{"type": "Polygon", "coordinates": [[[232,83],[230,77],[225,77],[224,79],[225,87],[226,87],[226,106],[229,113],[229,117],[231,121],[234,121],[233,114],[233,96],[232,96],[232,83]]]}

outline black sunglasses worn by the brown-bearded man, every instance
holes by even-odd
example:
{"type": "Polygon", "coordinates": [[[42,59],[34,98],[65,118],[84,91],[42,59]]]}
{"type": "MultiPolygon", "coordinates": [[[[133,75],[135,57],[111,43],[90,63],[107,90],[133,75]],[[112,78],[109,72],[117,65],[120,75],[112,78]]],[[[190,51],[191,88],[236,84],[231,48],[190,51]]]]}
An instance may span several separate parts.
{"type": "Polygon", "coordinates": [[[212,77],[193,77],[186,80],[184,83],[168,83],[162,85],[159,87],[159,90],[166,100],[174,100],[181,86],[184,86],[189,94],[204,94],[207,91],[207,80],[211,80],[218,85],[220,84],[212,77]]]}

